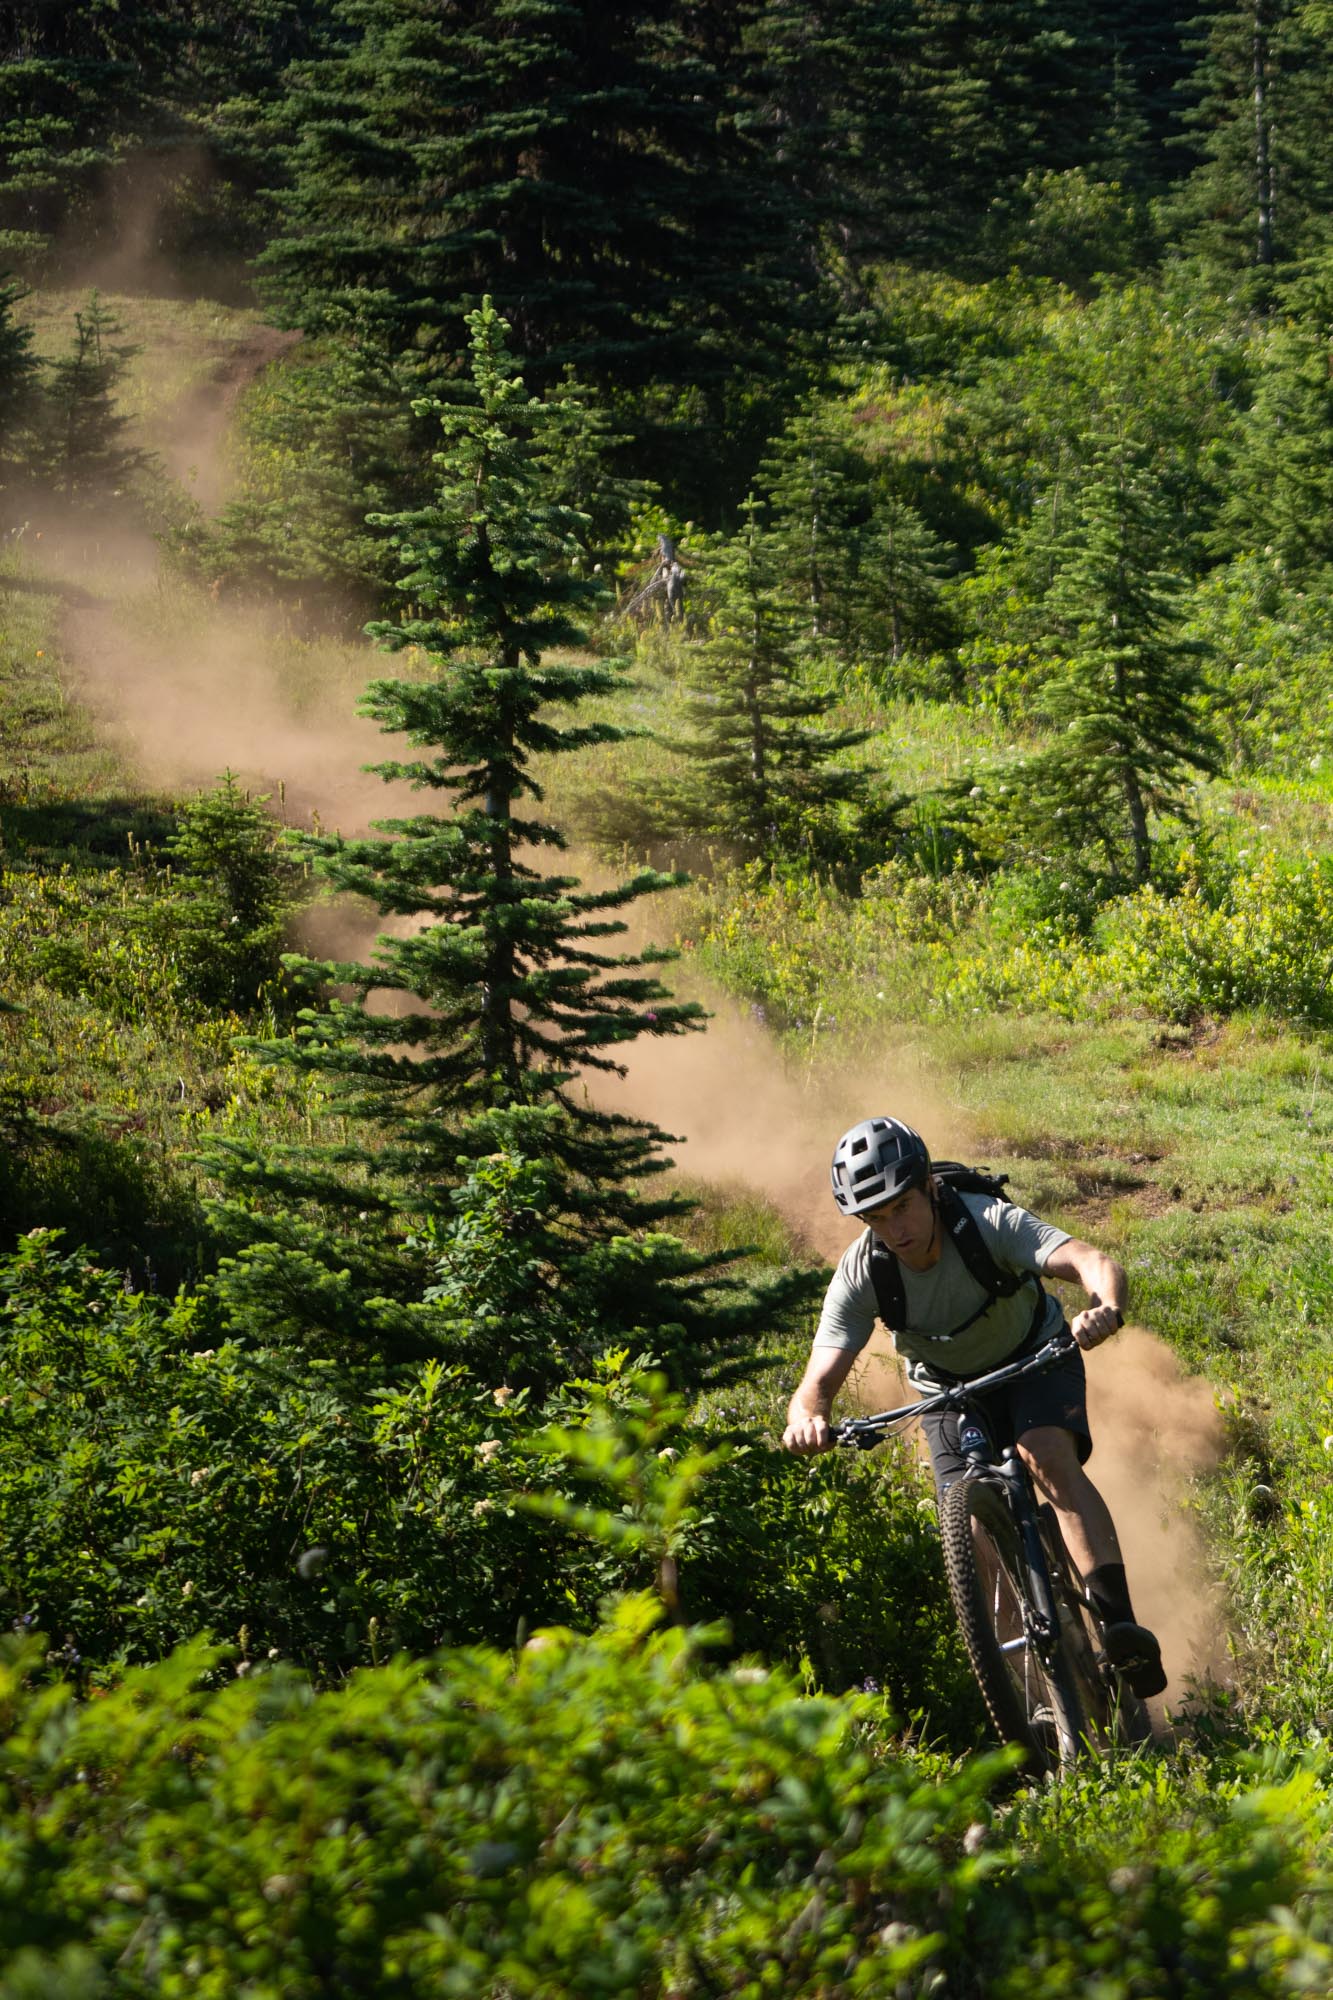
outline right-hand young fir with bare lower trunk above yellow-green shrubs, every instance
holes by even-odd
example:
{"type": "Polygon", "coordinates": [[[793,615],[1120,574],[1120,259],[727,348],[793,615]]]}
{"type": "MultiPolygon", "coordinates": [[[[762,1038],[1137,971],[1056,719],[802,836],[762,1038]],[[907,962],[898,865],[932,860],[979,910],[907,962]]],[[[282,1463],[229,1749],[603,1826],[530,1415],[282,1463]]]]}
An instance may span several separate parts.
{"type": "Polygon", "coordinates": [[[1099,846],[1109,886],[1151,878],[1151,814],[1191,820],[1189,786],[1217,768],[1201,648],[1181,638],[1183,578],[1159,568],[1167,510],[1123,440],[1089,468],[1047,592],[1051,748],[999,804],[1017,842],[1099,846]]]}

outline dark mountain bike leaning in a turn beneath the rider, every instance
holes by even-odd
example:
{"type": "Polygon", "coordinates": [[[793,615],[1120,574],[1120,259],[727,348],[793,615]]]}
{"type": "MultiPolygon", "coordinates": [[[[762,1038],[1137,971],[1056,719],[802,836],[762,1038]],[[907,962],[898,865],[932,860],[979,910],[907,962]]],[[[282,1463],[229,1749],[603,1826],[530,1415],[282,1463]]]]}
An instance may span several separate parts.
{"type": "Polygon", "coordinates": [[[959,1414],[967,1472],[939,1506],[945,1576],[963,1644],[991,1722],[1045,1776],[1091,1752],[1149,1742],[1147,1708],[1107,1662],[1103,1622],[1069,1560],[1055,1510],[1039,1502],[1027,1466],[997,1452],[981,1396],[1055,1366],[1073,1348],[1057,1334],[1021,1362],[939,1390],[899,1410],[853,1416],[835,1442],[869,1450],[931,1410],[959,1414]]]}

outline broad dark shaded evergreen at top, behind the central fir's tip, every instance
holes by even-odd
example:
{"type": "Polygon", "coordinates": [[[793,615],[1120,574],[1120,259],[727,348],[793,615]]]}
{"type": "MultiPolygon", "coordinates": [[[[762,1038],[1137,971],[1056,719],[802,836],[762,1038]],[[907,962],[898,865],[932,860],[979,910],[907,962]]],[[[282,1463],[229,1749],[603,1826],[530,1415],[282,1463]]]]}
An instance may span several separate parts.
{"type": "Polygon", "coordinates": [[[340,0],[336,28],[354,40],[296,66],[284,108],[292,190],[260,262],[288,324],[356,306],[448,364],[490,292],[540,386],[781,366],[813,272],[707,0],[340,0]]]}

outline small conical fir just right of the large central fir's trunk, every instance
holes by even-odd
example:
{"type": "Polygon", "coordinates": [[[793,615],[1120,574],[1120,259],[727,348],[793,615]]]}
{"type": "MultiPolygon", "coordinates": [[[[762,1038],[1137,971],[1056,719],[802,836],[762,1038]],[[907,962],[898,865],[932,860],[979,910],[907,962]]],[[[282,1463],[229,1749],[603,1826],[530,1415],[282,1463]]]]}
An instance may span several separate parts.
{"type": "Polygon", "coordinates": [[[847,820],[865,804],[867,774],[835,758],[869,732],[819,728],[833,696],[801,680],[799,614],[783,596],[755,496],[741,534],[713,560],[709,586],[711,636],[689,668],[693,734],[673,744],[689,776],[669,794],[666,814],[677,832],[747,858],[809,854],[837,864],[855,844],[847,820]]]}

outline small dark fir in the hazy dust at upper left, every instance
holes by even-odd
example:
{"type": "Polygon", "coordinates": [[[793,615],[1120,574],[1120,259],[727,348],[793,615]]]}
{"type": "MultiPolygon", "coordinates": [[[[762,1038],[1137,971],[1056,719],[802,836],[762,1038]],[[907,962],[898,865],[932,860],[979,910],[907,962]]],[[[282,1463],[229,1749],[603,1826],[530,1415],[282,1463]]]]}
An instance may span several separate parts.
{"type": "Polygon", "coordinates": [[[116,408],[116,388],[136,352],[116,342],[120,322],[92,292],[74,314],[70,352],[46,370],[38,470],[76,506],[94,506],[148,464],[148,452],[124,442],[128,418],[116,408]]]}

